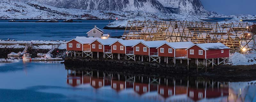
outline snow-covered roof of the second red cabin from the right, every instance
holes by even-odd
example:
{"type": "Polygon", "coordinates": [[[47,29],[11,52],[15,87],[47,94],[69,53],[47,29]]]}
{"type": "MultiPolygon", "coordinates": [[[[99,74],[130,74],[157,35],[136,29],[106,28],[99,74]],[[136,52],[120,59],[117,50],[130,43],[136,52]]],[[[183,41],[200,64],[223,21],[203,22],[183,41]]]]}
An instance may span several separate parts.
{"type": "Polygon", "coordinates": [[[193,42],[167,42],[167,44],[174,49],[188,48],[194,45],[193,42]]]}

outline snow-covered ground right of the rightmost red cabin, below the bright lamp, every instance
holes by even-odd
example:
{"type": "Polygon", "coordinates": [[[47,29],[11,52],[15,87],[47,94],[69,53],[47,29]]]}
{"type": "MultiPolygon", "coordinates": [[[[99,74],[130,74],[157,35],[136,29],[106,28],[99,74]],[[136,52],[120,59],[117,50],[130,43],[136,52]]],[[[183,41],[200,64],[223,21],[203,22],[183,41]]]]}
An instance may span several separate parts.
{"type": "Polygon", "coordinates": [[[229,55],[230,65],[252,65],[256,64],[256,53],[240,54],[238,52],[229,55]]]}

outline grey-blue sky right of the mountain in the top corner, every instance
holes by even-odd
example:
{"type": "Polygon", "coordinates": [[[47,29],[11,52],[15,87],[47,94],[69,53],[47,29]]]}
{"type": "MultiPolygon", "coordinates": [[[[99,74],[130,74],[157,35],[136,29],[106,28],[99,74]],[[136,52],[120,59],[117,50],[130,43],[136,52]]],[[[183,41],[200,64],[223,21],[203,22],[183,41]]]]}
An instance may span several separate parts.
{"type": "Polygon", "coordinates": [[[215,11],[218,14],[256,15],[256,0],[200,0],[207,11],[215,11]]]}

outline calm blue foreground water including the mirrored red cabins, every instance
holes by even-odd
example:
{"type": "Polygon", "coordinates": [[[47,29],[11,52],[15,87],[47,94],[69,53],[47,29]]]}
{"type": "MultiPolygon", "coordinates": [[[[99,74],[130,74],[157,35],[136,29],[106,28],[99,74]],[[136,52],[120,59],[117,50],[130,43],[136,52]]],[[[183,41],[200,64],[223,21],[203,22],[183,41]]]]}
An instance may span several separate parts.
{"type": "Polygon", "coordinates": [[[0,64],[0,102],[255,102],[256,81],[141,77],[67,70],[59,62],[0,64]]]}

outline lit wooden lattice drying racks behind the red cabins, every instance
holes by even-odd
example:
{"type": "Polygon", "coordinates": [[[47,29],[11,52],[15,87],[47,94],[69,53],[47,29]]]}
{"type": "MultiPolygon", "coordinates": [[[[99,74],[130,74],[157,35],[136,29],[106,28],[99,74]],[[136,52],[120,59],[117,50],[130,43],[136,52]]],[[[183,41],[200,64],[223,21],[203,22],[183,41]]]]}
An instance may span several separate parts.
{"type": "Polygon", "coordinates": [[[219,24],[188,21],[128,21],[123,39],[193,43],[220,42],[232,52],[255,47],[254,34],[248,23],[219,24]]]}

